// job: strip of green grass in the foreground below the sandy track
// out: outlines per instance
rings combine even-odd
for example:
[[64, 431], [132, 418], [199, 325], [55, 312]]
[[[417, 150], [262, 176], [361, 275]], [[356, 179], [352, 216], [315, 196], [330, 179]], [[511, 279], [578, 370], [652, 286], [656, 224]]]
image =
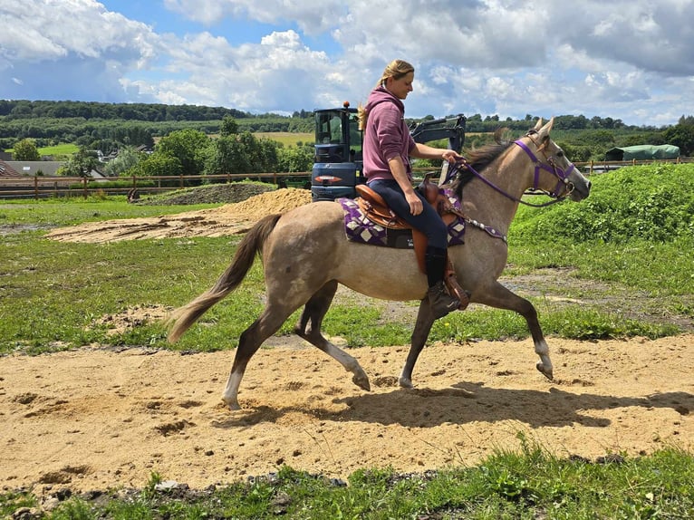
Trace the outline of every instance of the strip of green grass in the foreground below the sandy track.
[[[111, 490], [98, 500], [72, 496], [41, 518], [353, 518], [566, 519], [690, 518], [694, 457], [665, 448], [651, 457], [555, 457], [519, 436], [476, 467], [400, 475], [361, 469], [347, 482], [280, 467], [276, 474], [204, 491], [158, 490], [152, 474], [140, 491]], [[33, 506], [31, 492], [0, 496], [0, 514]]]

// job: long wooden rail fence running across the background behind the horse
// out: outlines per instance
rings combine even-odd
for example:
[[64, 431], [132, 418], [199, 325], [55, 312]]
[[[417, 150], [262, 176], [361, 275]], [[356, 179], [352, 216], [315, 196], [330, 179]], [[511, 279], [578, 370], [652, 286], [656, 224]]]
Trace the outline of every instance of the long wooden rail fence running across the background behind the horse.
[[[586, 175], [599, 174], [625, 166], [639, 166], [653, 163], [681, 164], [694, 162], [694, 158], [626, 160], [626, 161], [588, 161], [575, 162]], [[415, 173], [430, 169], [415, 169]], [[178, 175], [158, 177], [119, 177], [119, 178], [82, 178], [82, 177], [0, 177], [0, 198], [42, 198], [42, 197], [89, 197], [97, 193], [126, 195], [135, 188], [140, 194], [159, 193], [175, 189], [200, 186], [204, 184], [230, 183], [238, 180], [261, 180], [277, 186], [305, 187], [311, 180], [310, 171], [292, 173], [255, 173], [223, 175]], [[113, 185], [118, 181], [118, 186]]]

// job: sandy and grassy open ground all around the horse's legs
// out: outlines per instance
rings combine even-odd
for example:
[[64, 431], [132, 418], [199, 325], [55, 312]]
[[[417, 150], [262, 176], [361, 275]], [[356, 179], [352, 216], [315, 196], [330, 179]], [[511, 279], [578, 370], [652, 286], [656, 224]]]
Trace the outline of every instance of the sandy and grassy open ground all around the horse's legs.
[[[135, 488], [135, 504], [157, 507], [162, 498], [152, 493], [167, 479], [223, 493], [252, 477], [240, 493], [259, 494], [260, 509], [236, 517], [283, 509], [297, 518], [321, 510], [387, 517], [375, 503], [391, 517], [688, 516], [694, 278], [682, 252], [691, 250], [694, 190], [682, 179], [691, 170], [624, 170], [595, 178], [581, 204], [516, 219], [504, 281], [540, 311], [555, 380], [535, 371], [532, 342], [515, 316], [471, 308], [437, 323], [417, 388], [401, 390], [416, 305], [341, 290], [324, 330], [361, 362], [371, 392], [287, 335], [287, 323], [251, 362], [243, 409], [234, 413], [218, 396], [233, 357], [227, 349], [262, 307], [258, 265], [180, 345], [164, 341], [160, 319], [214, 283], [262, 212], [306, 203], [303, 190], [227, 206], [4, 204], [0, 482], [30, 489], [29, 501], [61, 488]], [[624, 207], [638, 203], [631, 217], [620, 213], [622, 198]], [[620, 227], [625, 218], [631, 225]], [[212, 232], [201, 236], [205, 229]], [[309, 475], [334, 479], [333, 498], [313, 513], [293, 509], [308, 500], [301, 496], [312, 489]], [[448, 487], [463, 480], [479, 487]], [[335, 484], [347, 481], [349, 492]], [[361, 496], [367, 482], [371, 498]], [[599, 491], [611, 486], [617, 499]], [[168, 500], [182, 488], [169, 489]], [[484, 503], [487, 515], [470, 509], [487, 495], [494, 501]], [[591, 500], [601, 496], [607, 509], [595, 514]], [[411, 509], [398, 509], [406, 504]], [[186, 517], [199, 516], [190, 509]]]

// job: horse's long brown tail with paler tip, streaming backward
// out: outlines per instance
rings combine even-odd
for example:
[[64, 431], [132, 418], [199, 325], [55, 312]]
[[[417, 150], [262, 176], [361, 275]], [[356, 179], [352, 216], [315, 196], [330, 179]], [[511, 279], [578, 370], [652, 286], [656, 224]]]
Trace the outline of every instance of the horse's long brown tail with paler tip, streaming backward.
[[243, 282], [255, 261], [255, 255], [263, 253], [265, 240], [272, 230], [275, 229], [279, 217], [280, 215], [268, 215], [259, 220], [241, 240], [231, 265], [219, 277], [217, 283], [205, 293], [200, 294], [195, 300], [178, 307], [169, 315], [167, 320], [167, 324], [171, 326], [169, 342], [177, 342], [183, 335], [183, 332], [188, 331], [188, 328], [193, 323], [196, 323], [207, 309], [222, 300]]

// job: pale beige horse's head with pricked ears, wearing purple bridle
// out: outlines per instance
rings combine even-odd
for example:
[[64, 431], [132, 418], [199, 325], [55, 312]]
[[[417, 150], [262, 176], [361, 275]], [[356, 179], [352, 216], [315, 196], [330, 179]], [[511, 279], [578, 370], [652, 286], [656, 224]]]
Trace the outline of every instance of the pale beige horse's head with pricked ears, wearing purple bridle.
[[574, 163], [564, 155], [564, 150], [549, 137], [554, 117], [545, 125], [542, 123], [542, 118], [538, 119], [534, 129], [515, 141], [516, 145], [535, 162], [532, 189], [545, 192], [554, 198], [583, 200], [591, 192], [591, 182], [574, 167]]

